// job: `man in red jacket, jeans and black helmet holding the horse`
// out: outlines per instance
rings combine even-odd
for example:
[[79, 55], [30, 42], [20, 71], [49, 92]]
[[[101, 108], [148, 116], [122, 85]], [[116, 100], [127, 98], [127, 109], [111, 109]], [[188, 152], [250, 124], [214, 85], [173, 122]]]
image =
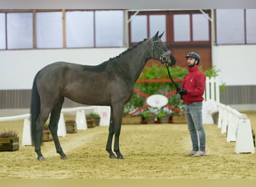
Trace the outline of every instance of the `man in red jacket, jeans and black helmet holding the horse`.
[[206, 156], [202, 120], [205, 76], [198, 68], [201, 58], [196, 52], [189, 52], [186, 60], [189, 73], [185, 76], [182, 88], [177, 88], [177, 93], [185, 102], [186, 121], [192, 141], [192, 150], [185, 156]]

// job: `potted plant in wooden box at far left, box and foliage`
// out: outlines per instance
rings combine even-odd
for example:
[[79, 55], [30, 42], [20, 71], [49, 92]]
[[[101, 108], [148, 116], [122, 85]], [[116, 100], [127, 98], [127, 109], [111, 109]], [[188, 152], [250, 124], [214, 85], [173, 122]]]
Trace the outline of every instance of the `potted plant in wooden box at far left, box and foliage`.
[[0, 133], [0, 151], [19, 150], [19, 136], [14, 131]]

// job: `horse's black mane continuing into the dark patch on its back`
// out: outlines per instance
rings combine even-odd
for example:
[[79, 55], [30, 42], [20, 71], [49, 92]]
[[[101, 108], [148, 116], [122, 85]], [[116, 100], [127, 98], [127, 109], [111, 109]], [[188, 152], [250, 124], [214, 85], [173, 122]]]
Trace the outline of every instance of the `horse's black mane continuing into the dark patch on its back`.
[[136, 43], [134, 46], [130, 46], [127, 50], [125, 50], [124, 52], [122, 52], [118, 56], [116, 56], [114, 58], [109, 58], [109, 61], [104, 61], [102, 64], [99, 64], [99, 65], [96, 65], [96, 66], [84, 65], [83, 66], [83, 70], [92, 71], [92, 72], [103, 72], [103, 70], [105, 70], [106, 66], [109, 64], [110, 61], [113, 61], [113, 60], [116, 60], [118, 58], [121, 58], [122, 55], [126, 54], [127, 52], [132, 51], [132, 49], [135, 49], [137, 46], [139, 46], [145, 40], [147, 40], [147, 39], [144, 39], [144, 40]]

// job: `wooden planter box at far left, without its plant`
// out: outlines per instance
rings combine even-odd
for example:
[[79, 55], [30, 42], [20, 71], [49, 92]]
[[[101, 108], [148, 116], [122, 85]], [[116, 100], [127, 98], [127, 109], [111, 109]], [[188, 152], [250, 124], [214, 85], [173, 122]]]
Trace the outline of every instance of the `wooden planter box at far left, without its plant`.
[[19, 137], [0, 138], [0, 151], [19, 150]]

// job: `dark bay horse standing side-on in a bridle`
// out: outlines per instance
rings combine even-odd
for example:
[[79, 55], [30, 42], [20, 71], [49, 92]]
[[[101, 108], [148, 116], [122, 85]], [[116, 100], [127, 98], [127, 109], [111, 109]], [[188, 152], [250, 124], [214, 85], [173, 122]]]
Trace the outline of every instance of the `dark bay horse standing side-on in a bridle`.
[[[132, 97], [133, 87], [150, 59], [172, 66], [175, 58], [165, 43], [162, 34], [137, 43], [115, 58], [97, 66], [55, 62], [43, 67], [34, 77], [31, 96], [31, 136], [37, 159], [43, 160], [40, 146], [43, 125], [49, 117], [49, 129], [61, 159], [67, 156], [58, 140], [58, 120], [64, 97], [85, 105], [109, 105], [111, 117], [106, 150], [109, 158], [124, 159], [119, 149], [121, 118], [124, 105]], [[114, 152], [112, 139], [115, 135]]]

